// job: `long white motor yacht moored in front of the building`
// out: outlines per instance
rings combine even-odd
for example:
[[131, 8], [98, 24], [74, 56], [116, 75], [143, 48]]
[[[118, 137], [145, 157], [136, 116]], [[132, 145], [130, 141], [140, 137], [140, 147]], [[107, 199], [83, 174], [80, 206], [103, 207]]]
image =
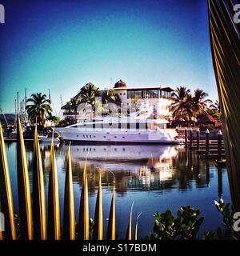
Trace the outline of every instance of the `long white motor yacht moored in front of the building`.
[[151, 118], [153, 113], [153, 107], [140, 108], [127, 116], [95, 118], [55, 130], [65, 141], [179, 144], [177, 132], [166, 129], [168, 121]]

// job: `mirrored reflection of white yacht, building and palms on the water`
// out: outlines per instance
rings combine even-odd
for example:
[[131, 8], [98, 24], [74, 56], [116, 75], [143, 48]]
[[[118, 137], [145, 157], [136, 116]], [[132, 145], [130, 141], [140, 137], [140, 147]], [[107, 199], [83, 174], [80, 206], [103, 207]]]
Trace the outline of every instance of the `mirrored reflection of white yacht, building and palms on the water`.
[[[66, 170], [68, 146], [55, 146], [61, 170]], [[32, 146], [26, 144], [29, 166]], [[42, 144], [42, 164], [45, 179], [50, 166], [50, 145]], [[98, 172], [102, 170], [103, 186], [115, 186], [118, 194], [128, 190], [192, 190], [193, 186], [209, 186], [210, 163], [183, 146], [71, 146], [74, 183], [81, 186], [82, 166], [88, 156], [90, 194], [96, 193]], [[59, 162], [59, 161], [58, 161]], [[31, 168], [30, 168], [31, 172]]]

